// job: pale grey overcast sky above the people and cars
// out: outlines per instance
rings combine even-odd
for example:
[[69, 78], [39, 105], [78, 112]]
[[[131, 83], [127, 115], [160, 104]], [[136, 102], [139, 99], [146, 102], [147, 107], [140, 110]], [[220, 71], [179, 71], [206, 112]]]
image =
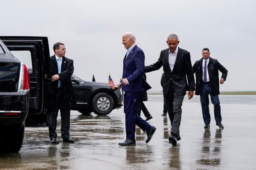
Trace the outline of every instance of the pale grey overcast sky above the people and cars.
[[[145, 53], [145, 65], [155, 63], [168, 48], [169, 34], [190, 52], [192, 65], [201, 50], [228, 70], [221, 91], [255, 91], [255, 0], [4, 0], [0, 35], [46, 36], [52, 46], [62, 42], [85, 81], [115, 83], [122, 76], [125, 48], [122, 34], [131, 31]], [[151, 91], [160, 91], [163, 68], [147, 73]], [[220, 75], [221, 76], [221, 75]]]

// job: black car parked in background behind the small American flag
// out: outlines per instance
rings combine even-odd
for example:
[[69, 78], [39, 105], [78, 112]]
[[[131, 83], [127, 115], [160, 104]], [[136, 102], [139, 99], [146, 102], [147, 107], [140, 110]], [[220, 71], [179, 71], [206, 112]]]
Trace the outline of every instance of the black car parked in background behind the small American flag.
[[82, 114], [94, 112], [97, 115], [107, 115], [113, 109], [121, 108], [122, 89], [111, 89], [107, 83], [83, 81], [75, 75], [72, 75], [71, 80], [76, 96], [76, 106], [71, 109]]

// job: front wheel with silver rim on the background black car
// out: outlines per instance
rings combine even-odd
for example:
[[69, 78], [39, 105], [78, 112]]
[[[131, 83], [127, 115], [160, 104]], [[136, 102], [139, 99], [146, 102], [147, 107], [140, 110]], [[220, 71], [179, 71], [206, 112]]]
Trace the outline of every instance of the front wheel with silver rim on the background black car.
[[108, 115], [114, 107], [111, 95], [100, 92], [93, 98], [93, 112], [97, 115]]

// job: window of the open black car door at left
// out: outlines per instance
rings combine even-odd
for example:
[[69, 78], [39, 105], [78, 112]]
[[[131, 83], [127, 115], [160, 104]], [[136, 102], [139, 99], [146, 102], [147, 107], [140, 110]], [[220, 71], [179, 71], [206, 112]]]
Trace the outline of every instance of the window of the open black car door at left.
[[28, 69], [32, 69], [32, 60], [31, 60], [31, 52], [30, 51], [11, 51], [12, 55], [14, 55], [21, 63], [26, 64]]

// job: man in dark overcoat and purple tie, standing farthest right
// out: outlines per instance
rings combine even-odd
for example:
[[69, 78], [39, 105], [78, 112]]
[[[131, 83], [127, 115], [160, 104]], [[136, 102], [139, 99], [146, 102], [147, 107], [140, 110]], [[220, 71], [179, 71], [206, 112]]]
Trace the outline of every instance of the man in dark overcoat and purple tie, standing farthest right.
[[[201, 107], [204, 119], [204, 128], [210, 127], [209, 113], [209, 95], [211, 96], [212, 104], [214, 105], [214, 117], [216, 125], [224, 128], [221, 124], [221, 106], [218, 95], [219, 82], [223, 84], [227, 78], [227, 69], [218, 62], [218, 60], [210, 58], [209, 49], [204, 48], [202, 51], [203, 58], [196, 61], [193, 66], [193, 72], [196, 77], [195, 95], [200, 95]], [[218, 71], [222, 72], [221, 80], [219, 81]]]

